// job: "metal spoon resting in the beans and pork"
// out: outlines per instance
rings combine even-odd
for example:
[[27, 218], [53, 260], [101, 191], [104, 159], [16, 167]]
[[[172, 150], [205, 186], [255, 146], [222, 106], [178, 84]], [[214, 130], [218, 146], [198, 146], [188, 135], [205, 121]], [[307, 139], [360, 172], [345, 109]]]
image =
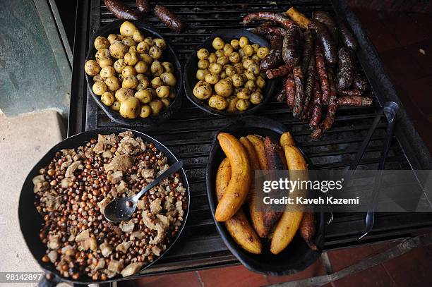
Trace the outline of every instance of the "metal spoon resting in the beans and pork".
[[133, 197], [117, 198], [110, 202], [107, 207], [105, 207], [105, 218], [112, 222], [128, 220], [132, 216], [133, 212], [135, 212], [136, 204], [140, 197], [143, 196], [144, 193], [147, 193], [148, 190], [158, 185], [164, 178], [171, 176], [173, 173], [181, 169], [181, 166], [183, 166], [183, 161], [177, 161]]

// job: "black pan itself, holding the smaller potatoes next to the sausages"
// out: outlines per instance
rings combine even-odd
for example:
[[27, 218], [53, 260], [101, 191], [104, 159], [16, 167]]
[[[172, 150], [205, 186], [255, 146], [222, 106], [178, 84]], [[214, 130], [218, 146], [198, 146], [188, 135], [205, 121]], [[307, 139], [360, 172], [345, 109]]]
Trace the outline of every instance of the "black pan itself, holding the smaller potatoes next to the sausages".
[[[252, 32], [249, 32], [248, 30], [227, 29], [227, 30], [217, 30], [216, 32], [214, 32], [210, 37], [208, 37], [208, 39], [205, 40], [203, 44], [200, 45], [200, 47], [196, 48], [196, 51], [198, 51], [201, 48], [208, 49], [208, 51], [215, 51], [215, 49], [212, 47], [212, 42], [213, 39], [215, 39], [215, 37], [221, 37], [225, 43], [229, 43], [232, 39], [234, 38], [239, 39], [241, 36], [248, 37], [249, 42], [251, 42], [251, 44], [259, 44], [260, 46], [269, 47], [269, 44], [265, 39], [261, 38], [258, 35], [253, 34]], [[226, 111], [219, 111], [217, 109], [210, 108], [210, 106], [207, 103], [196, 98], [192, 92], [193, 87], [195, 87], [196, 83], [198, 83], [198, 80], [196, 78], [196, 71], [198, 70], [198, 66], [197, 66], [198, 58], [196, 57], [196, 51], [193, 51], [193, 53], [191, 53], [188, 62], [184, 67], [184, 91], [189, 101], [191, 101], [192, 104], [198, 106], [198, 108], [215, 116], [239, 118], [241, 116], [255, 114], [256, 111], [261, 109], [263, 105], [266, 102], [268, 102], [272, 97], [272, 94], [275, 90], [276, 81], [274, 79], [273, 80], [265, 79], [265, 89], [263, 91], [263, 97], [264, 97], [263, 102], [257, 105], [253, 105], [251, 109], [247, 109], [246, 111], [235, 111], [234, 113], [227, 113]]]

